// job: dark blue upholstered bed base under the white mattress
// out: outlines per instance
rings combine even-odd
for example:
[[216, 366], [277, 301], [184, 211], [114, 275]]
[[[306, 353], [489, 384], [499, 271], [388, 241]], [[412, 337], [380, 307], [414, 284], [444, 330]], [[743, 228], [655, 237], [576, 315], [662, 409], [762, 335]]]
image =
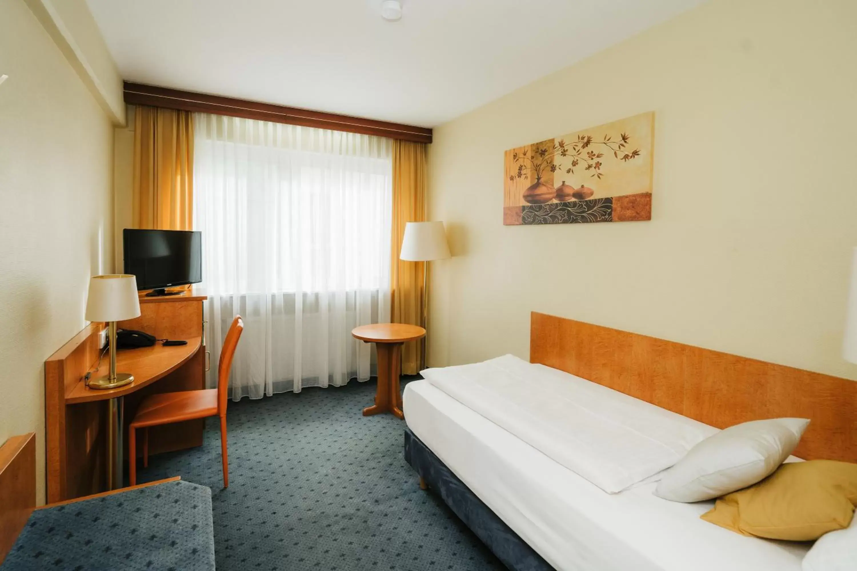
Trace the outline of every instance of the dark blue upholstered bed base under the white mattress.
[[512, 571], [554, 571], [409, 428], [405, 428], [405, 461], [507, 568]]

